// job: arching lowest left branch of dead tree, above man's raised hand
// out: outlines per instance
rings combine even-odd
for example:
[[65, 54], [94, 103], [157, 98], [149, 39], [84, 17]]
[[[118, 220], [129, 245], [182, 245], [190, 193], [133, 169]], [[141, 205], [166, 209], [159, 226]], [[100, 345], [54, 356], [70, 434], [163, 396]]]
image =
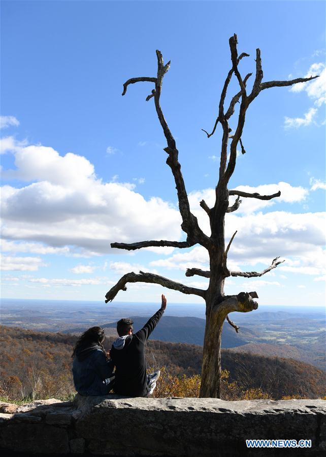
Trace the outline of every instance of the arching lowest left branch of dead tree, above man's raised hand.
[[108, 301], [112, 301], [114, 297], [117, 295], [119, 290], [127, 290], [125, 287], [126, 283], [151, 283], [151, 284], [160, 284], [163, 287], [167, 287], [168, 289], [178, 290], [184, 294], [193, 294], [199, 295], [200, 297], [205, 298], [206, 291], [202, 289], [196, 289], [194, 287], [184, 286], [181, 283], [176, 283], [175, 281], [171, 281], [168, 278], [164, 278], [162, 276], [154, 275], [153, 273], [144, 273], [143, 271], [139, 272], [139, 275], [136, 275], [133, 271], [130, 273], [126, 273], [123, 275], [122, 278], [119, 279], [117, 284], [113, 286], [109, 292], [105, 295], [107, 303]]

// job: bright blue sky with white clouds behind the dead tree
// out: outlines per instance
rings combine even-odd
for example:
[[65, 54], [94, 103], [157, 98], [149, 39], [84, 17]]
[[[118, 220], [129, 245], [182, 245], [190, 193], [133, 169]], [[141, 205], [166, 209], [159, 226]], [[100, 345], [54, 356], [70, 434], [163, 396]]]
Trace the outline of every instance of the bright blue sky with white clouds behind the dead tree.
[[[4, 297], [102, 300], [122, 274], [139, 269], [207, 287], [184, 276], [187, 267], [207, 269], [199, 246], [110, 248], [184, 239], [165, 138], [153, 99], [145, 101], [153, 85], [131, 85], [121, 97], [122, 84], [156, 75], [155, 49], [171, 59], [161, 106], [191, 208], [208, 231], [199, 201], [212, 199], [221, 132], [207, 139], [201, 129], [214, 125], [236, 33], [239, 53], [250, 54], [243, 75], [254, 70], [259, 47], [265, 81], [320, 77], [265, 90], [248, 110], [247, 153], [229, 189], [282, 195], [243, 201], [226, 216], [226, 239], [238, 230], [229, 268], [285, 262], [260, 279], [229, 279], [225, 291], [256, 290], [260, 306], [323, 304], [324, 2], [2, 1], [1, 10]], [[238, 90], [232, 81], [227, 100]], [[201, 301], [141, 283], [116, 300], [155, 301], [162, 292], [171, 302]]]

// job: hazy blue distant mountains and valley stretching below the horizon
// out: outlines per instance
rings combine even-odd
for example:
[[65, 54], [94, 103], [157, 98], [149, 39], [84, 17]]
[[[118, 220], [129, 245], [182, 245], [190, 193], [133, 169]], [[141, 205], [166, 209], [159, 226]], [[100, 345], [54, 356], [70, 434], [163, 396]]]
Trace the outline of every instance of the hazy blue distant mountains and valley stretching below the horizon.
[[[93, 325], [104, 326], [116, 338], [116, 321], [135, 316], [135, 331], [158, 309], [156, 303], [71, 302], [55, 300], [1, 300], [1, 323], [34, 331], [80, 334]], [[203, 345], [204, 304], [169, 303], [151, 339]], [[224, 323], [222, 348], [242, 353], [292, 357], [325, 364], [325, 312], [321, 308], [262, 307], [252, 313], [232, 313], [239, 333]]]

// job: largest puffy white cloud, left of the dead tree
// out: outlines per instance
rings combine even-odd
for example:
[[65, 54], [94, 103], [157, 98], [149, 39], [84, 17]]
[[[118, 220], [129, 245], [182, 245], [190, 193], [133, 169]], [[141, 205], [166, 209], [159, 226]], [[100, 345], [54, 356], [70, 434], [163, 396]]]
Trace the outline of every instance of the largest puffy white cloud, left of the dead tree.
[[181, 217], [173, 205], [146, 200], [134, 184], [103, 182], [85, 157], [60, 156], [42, 145], [21, 147], [14, 156], [16, 169], [4, 175], [27, 184], [2, 188], [2, 233], [8, 241], [103, 254], [114, 241], [180, 239]]

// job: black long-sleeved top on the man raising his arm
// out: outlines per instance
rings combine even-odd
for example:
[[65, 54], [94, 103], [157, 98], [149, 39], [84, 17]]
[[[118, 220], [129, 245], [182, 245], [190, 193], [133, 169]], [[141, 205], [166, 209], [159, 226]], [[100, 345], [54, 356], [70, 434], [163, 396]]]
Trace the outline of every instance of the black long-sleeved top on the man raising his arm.
[[147, 394], [145, 343], [163, 313], [164, 310], [159, 309], [141, 330], [127, 336], [122, 349], [117, 349], [116, 342], [113, 343], [110, 357], [115, 364], [115, 393], [127, 397], [144, 397]]

